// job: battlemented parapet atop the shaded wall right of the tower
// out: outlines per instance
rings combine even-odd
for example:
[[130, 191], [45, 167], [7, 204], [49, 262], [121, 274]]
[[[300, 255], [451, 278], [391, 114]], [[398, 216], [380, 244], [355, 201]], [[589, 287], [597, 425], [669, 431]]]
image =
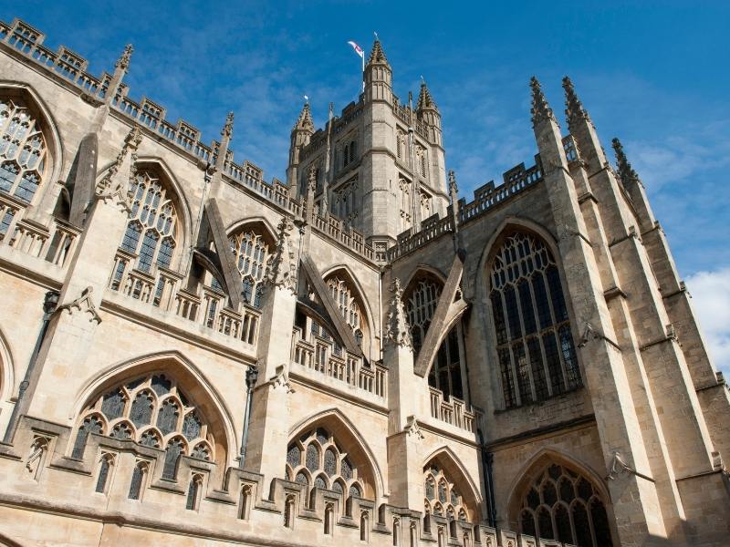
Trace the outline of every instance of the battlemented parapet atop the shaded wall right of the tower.
[[[525, 169], [525, 164], [520, 163], [515, 168], [506, 171], [504, 184], [495, 187], [495, 182], [489, 181], [474, 191], [474, 201], [466, 203], [464, 199], [459, 200], [458, 212], [455, 215], [457, 225], [463, 226], [467, 222], [473, 221], [496, 205], [535, 185], [538, 181], [542, 181], [542, 178], [543, 172], [539, 156], [536, 156], [536, 164], [529, 169]], [[454, 232], [453, 205], [449, 206], [443, 219], [423, 222], [420, 232], [401, 234], [398, 243], [388, 249], [387, 258], [389, 261], [396, 260], [404, 254], [420, 249], [446, 232]]]

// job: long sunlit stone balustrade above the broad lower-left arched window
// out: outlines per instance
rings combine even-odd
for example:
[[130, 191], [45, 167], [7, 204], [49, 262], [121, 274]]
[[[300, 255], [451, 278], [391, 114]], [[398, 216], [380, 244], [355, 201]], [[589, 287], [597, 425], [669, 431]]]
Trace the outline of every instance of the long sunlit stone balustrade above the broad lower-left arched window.
[[166, 268], [142, 272], [134, 267], [137, 258], [121, 249], [117, 252], [109, 282], [112, 291], [256, 345], [261, 320], [258, 310], [247, 305], [241, 312], [225, 307], [225, 294], [211, 287], [203, 286], [199, 294], [187, 291], [182, 287], [183, 276]]

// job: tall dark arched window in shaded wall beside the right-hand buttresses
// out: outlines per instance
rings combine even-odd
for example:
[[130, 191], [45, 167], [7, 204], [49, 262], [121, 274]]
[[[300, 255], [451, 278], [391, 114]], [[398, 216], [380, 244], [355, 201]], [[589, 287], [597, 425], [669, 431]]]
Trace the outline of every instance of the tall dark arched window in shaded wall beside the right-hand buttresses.
[[578, 387], [568, 308], [546, 244], [526, 232], [507, 234], [489, 279], [506, 408]]

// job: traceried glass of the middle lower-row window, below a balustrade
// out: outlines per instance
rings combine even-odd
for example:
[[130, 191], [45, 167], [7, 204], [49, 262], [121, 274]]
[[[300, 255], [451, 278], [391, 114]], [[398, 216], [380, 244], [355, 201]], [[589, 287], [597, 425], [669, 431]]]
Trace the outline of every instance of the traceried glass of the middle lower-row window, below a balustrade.
[[359, 470], [325, 428], [311, 429], [289, 444], [286, 475], [308, 488], [334, 490], [344, 498], [362, 498], [365, 492]]

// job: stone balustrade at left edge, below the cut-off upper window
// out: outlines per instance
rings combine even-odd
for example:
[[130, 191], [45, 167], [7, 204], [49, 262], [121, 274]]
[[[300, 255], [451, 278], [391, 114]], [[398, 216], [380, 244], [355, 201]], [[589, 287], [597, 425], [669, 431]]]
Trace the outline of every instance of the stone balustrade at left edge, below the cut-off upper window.
[[0, 244], [64, 267], [81, 230], [53, 219], [50, 227], [24, 218], [26, 204], [0, 191]]

